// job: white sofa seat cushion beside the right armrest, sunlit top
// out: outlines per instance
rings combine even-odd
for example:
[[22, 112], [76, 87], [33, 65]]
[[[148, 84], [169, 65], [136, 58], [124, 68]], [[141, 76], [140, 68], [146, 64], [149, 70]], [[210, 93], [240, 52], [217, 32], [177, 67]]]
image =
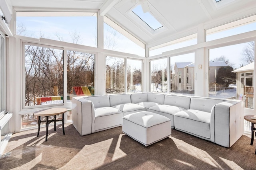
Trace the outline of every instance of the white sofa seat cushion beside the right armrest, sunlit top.
[[175, 129], [210, 140], [211, 113], [188, 109], [174, 115]]

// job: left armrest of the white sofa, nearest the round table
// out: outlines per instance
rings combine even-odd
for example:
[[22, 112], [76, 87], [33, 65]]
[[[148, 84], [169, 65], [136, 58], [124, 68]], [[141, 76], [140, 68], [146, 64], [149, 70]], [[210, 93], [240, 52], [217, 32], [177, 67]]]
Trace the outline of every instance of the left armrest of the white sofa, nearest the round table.
[[72, 124], [81, 136], [94, 133], [95, 110], [90, 100], [72, 98]]

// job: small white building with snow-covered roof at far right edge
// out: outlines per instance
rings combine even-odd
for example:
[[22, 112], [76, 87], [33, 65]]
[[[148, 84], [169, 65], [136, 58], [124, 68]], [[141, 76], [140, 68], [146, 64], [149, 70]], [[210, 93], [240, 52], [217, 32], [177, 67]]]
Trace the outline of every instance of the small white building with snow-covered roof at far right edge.
[[253, 87], [254, 62], [242, 66], [234, 71], [236, 73], [236, 95], [244, 95], [244, 86]]

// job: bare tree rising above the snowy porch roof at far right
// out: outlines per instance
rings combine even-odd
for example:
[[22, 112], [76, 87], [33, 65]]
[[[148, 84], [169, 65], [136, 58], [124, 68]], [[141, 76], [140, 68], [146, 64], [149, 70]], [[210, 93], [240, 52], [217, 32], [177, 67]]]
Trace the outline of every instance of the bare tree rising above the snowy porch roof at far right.
[[244, 65], [254, 62], [254, 41], [248, 42], [247, 46], [243, 49], [243, 57], [241, 61]]

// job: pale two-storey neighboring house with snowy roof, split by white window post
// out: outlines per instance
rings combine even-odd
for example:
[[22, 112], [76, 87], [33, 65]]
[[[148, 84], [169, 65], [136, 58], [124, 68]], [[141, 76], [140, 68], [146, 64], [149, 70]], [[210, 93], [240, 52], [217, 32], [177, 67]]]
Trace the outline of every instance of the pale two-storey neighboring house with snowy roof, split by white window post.
[[[209, 62], [209, 82], [216, 82], [218, 70], [223, 66], [228, 65], [224, 61]], [[194, 62], [175, 63], [172, 80], [172, 90], [194, 90]]]

